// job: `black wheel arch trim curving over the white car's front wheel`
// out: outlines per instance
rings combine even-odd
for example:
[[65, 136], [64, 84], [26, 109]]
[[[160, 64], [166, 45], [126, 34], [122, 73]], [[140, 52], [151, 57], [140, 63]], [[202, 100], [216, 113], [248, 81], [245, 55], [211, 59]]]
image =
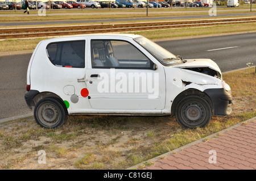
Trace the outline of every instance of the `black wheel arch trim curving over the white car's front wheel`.
[[197, 89], [187, 89], [187, 90], [181, 92], [179, 95], [177, 95], [176, 98], [174, 99], [174, 101], [172, 102], [171, 115], [173, 115], [173, 116], [175, 115], [177, 104], [179, 103], [179, 101], [181, 99], [183, 99], [185, 96], [188, 96], [188, 95], [198, 95], [201, 98], [204, 98], [205, 100], [207, 100], [207, 102], [210, 104], [210, 108], [213, 110], [212, 100], [210, 99], [210, 97], [207, 94], [205, 94], [204, 92], [201, 92], [200, 90], [197, 90]]

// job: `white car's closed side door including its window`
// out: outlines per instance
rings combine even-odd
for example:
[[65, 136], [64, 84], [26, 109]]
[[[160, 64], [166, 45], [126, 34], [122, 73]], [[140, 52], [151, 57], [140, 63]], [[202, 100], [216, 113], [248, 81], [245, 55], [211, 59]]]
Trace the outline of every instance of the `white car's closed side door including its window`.
[[[92, 108], [100, 110], [161, 110], [166, 84], [162, 66], [135, 41], [90, 40], [92, 69], [86, 70], [86, 87]], [[128, 111], [129, 112], [129, 111]]]

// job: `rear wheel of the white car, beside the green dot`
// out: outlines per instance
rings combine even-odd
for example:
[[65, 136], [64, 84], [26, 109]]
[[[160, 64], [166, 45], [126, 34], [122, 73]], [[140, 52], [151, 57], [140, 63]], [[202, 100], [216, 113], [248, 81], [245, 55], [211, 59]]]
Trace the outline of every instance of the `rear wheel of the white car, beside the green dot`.
[[68, 111], [64, 102], [55, 97], [48, 97], [36, 104], [34, 117], [40, 127], [57, 128], [67, 121]]

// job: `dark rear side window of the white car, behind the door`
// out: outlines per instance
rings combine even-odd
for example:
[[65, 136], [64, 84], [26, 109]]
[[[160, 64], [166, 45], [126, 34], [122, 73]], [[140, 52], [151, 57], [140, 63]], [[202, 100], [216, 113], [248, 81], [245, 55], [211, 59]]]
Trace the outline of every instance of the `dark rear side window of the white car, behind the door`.
[[85, 67], [85, 41], [62, 41], [50, 43], [46, 48], [53, 65], [69, 68]]

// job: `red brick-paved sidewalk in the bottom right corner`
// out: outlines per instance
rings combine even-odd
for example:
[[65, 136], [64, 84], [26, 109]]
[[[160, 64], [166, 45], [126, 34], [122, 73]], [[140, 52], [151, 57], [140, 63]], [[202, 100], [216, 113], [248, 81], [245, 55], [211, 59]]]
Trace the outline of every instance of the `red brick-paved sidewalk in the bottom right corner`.
[[[154, 162], [146, 170], [255, 170], [256, 120]], [[216, 163], [209, 163], [216, 151]]]

